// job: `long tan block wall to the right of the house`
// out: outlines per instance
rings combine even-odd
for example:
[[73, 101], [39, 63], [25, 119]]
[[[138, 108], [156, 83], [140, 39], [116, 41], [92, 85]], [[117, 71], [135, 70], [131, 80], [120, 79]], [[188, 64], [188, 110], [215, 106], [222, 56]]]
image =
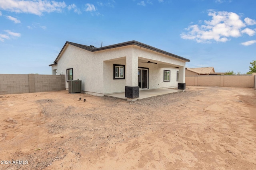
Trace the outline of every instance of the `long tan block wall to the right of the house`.
[[187, 86], [224, 86], [224, 87], [254, 87], [255, 76], [243, 75], [207, 75], [186, 76]]

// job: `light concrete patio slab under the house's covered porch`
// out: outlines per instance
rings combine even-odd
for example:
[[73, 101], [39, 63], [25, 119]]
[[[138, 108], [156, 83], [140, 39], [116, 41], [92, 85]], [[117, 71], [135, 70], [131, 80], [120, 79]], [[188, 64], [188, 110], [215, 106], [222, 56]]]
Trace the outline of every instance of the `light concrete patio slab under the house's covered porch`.
[[[160, 96], [164, 94], [169, 93], [175, 93], [175, 92], [182, 92], [183, 90], [175, 90], [170, 88], [160, 88], [160, 89], [150, 89], [150, 90], [140, 90], [140, 97], [137, 98], [138, 100], [145, 99], [145, 98], [151, 98], [154, 96]], [[126, 100], [125, 93], [112, 93], [112, 94], [104, 94], [104, 96], [112, 97], [112, 98], [118, 98], [122, 100]]]

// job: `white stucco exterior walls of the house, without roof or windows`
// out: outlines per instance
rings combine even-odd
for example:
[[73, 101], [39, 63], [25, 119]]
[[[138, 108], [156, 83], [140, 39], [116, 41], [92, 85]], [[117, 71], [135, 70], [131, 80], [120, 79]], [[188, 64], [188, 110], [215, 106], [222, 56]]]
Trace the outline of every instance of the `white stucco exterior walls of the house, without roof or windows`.
[[[54, 70], [52, 72], [55, 73], [56, 70], [57, 75], [65, 74], [66, 78], [66, 69], [73, 68], [73, 79], [82, 80], [82, 91], [86, 93], [91, 92], [101, 96], [101, 94], [124, 92], [128, 79], [132, 80], [133, 84], [136, 84], [136, 86], [138, 85], [138, 70], [135, 69], [133, 74], [127, 70], [127, 57], [133, 56], [137, 56], [138, 58], [138, 66], [136, 66], [136, 68], [149, 68], [149, 89], [174, 87], [178, 85], [178, 82], [176, 81], [177, 67], [185, 67], [184, 61], [164, 54], [152, 52], [136, 45], [95, 52], [90, 52], [73, 45], [67, 45], [57, 61], [58, 64], [52, 66], [52, 70]], [[162, 64], [140, 63], [140, 60], [161, 61], [162, 63], [165, 63], [165, 67], [163, 67]], [[130, 62], [130, 60], [128, 61]], [[113, 64], [125, 65], [125, 79], [113, 79]], [[129, 64], [134, 67], [136, 62], [135, 65], [134, 63]], [[170, 82], [163, 81], [164, 70], [171, 71]], [[68, 89], [68, 82], [66, 82], [66, 89]]]

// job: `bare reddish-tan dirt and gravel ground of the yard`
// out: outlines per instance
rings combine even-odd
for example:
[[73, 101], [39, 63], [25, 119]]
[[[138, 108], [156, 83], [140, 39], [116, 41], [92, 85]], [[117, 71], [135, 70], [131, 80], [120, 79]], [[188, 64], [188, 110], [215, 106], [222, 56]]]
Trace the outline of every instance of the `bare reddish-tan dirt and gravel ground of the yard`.
[[256, 90], [0, 95], [0, 160], [1, 170], [255, 170]]

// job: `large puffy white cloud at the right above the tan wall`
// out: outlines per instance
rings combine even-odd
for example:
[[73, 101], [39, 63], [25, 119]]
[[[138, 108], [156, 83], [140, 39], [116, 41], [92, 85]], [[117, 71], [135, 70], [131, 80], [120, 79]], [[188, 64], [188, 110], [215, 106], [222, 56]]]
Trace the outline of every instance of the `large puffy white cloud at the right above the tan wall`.
[[202, 25], [190, 25], [185, 29], [186, 33], [180, 35], [181, 38], [192, 39], [198, 43], [226, 42], [230, 40], [230, 37], [240, 37], [242, 33], [247, 33], [250, 36], [255, 33], [249, 28], [242, 30], [246, 24], [236, 13], [210, 11], [208, 16], [211, 16], [212, 20], [204, 21]]

